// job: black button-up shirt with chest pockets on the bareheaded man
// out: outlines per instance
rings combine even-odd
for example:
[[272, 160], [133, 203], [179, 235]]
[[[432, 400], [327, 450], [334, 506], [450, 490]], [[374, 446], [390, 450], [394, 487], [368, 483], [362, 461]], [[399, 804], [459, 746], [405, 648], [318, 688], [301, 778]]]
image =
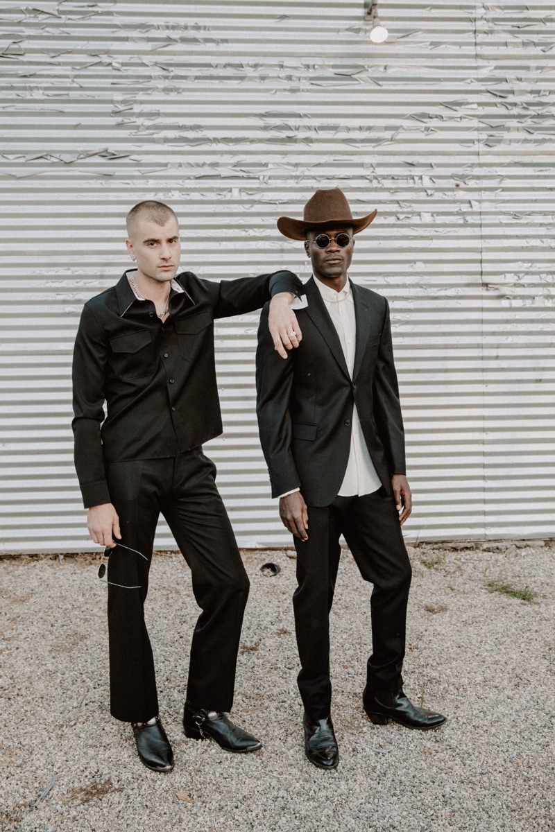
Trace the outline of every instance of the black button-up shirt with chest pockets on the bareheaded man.
[[278, 292], [303, 291], [289, 271], [221, 283], [188, 271], [176, 282], [183, 291], [171, 289], [164, 323], [151, 300], [136, 299], [126, 273], [82, 311], [72, 427], [86, 508], [111, 502], [105, 462], [171, 457], [221, 433], [214, 319], [260, 309]]

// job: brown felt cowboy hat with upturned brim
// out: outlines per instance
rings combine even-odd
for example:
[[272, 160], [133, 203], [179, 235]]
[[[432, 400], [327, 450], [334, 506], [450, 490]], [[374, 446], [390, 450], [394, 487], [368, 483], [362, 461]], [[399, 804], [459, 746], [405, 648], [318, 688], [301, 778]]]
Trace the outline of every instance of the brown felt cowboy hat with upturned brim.
[[340, 188], [319, 188], [306, 203], [302, 220], [280, 216], [277, 225], [281, 233], [291, 240], [305, 240], [307, 231], [322, 225], [352, 225], [353, 234], [358, 234], [370, 225], [377, 213], [374, 209], [371, 214], [354, 220], [347, 197]]

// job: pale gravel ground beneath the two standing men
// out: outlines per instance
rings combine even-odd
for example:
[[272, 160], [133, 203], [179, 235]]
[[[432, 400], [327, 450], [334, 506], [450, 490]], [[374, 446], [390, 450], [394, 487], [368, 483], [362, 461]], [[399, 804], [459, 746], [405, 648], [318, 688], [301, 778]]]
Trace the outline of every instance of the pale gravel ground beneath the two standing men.
[[[251, 579], [235, 721], [264, 740], [250, 755], [181, 728], [197, 610], [176, 552], [152, 565], [148, 626], [176, 768], [146, 770], [111, 719], [106, 587], [97, 559], [18, 557], [2, 574], [2, 832], [536, 832], [553, 819], [555, 542], [411, 548], [405, 691], [443, 728], [373, 726], [361, 691], [369, 589], [344, 553], [332, 612], [333, 717], [341, 761], [305, 759], [290, 597], [293, 552], [244, 552]], [[260, 573], [271, 560], [281, 572]], [[490, 581], [538, 593], [489, 592]], [[490, 587], [491, 588], [491, 587]]]

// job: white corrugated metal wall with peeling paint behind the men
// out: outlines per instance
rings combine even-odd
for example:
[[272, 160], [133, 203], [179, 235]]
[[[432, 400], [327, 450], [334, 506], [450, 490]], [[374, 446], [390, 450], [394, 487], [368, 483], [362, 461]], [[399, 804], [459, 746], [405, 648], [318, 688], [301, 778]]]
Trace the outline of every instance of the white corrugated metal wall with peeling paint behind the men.
[[[336, 184], [355, 215], [379, 209], [351, 275], [392, 305], [407, 537], [553, 536], [553, 0], [379, 6], [381, 46], [349, 0], [2, 3], [3, 551], [92, 547], [72, 340], [128, 265], [126, 210], [174, 206], [204, 277], [308, 276], [275, 219]], [[283, 545], [255, 330], [218, 326], [225, 433], [208, 453], [240, 544]]]

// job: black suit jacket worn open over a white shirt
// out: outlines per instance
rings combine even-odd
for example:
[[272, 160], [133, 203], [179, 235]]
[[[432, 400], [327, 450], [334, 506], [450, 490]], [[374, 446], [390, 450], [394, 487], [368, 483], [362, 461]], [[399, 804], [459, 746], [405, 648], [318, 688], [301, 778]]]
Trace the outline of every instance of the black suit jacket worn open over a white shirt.
[[305, 285], [308, 308], [296, 312], [298, 349], [281, 359], [260, 316], [256, 412], [272, 496], [300, 487], [308, 505], [327, 506], [349, 460], [353, 405], [370, 458], [389, 496], [391, 475], [405, 473], [404, 430], [387, 300], [350, 283], [356, 316], [353, 378], [320, 290]]

